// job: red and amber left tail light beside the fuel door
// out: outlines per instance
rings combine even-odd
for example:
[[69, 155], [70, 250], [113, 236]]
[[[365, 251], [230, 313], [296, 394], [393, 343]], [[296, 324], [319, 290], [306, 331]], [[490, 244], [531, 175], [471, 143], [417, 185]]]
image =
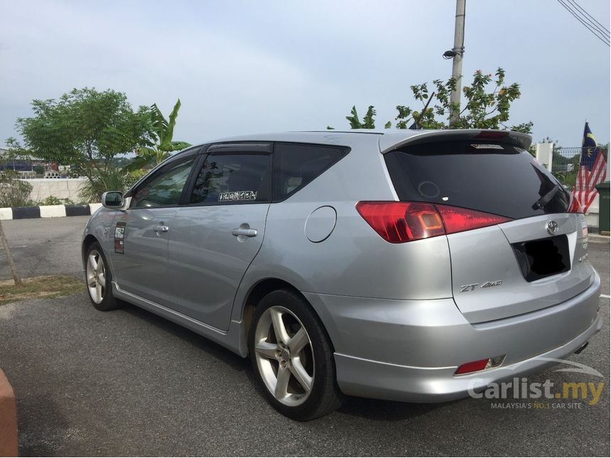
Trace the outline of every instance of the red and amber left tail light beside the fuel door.
[[357, 212], [382, 239], [391, 244], [510, 221], [496, 214], [426, 202], [358, 202]]

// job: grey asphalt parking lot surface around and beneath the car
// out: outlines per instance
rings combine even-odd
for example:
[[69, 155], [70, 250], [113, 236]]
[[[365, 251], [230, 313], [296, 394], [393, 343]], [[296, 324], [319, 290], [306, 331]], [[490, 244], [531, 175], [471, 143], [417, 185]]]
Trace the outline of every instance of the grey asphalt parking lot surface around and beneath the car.
[[[86, 220], [3, 222], [23, 276], [79, 275]], [[590, 244], [590, 259], [609, 295], [609, 245]], [[16, 391], [22, 456], [608, 456], [609, 305], [600, 300], [605, 326], [571, 358], [602, 378], [530, 378], [605, 383], [596, 405], [576, 409], [347, 398], [326, 418], [293, 422], [259, 396], [248, 360], [136, 307], [97, 312], [85, 293], [0, 306], [0, 367]]]

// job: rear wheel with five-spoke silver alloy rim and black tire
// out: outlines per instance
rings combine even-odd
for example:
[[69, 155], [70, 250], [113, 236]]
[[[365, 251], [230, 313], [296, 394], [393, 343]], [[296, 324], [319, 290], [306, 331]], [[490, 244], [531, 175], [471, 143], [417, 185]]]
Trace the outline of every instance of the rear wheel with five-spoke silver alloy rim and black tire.
[[252, 317], [249, 353], [261, 391], [286, 417], [313, 420], [340, 407], [330, 338], [298, 293], [276, 290], [261, 299]]

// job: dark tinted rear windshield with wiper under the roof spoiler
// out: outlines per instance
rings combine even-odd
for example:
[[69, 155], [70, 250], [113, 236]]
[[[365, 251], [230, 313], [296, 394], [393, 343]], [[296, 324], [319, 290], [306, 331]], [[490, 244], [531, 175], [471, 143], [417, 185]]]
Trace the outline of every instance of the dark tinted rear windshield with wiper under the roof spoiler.
[[439, 142], [386, 153], [399, 199], [526, 218], [566, 212], [570, 195], [523, 148]]

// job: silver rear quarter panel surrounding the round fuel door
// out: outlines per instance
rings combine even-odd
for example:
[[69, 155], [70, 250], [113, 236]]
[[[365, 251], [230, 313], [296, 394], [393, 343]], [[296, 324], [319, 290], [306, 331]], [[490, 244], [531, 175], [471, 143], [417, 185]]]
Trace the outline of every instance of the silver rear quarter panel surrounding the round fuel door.
[[[390, 244], [358, 214], [359, 200], [396, 200], [384, 157], [375, 149], [356, 150], [283, 202], [273, 203], [261, 251], [249, 267], [235, 304], [253, 285], [279, 278], [303, 292], [389, 299], [451, 298], [450, 254], [445, 236]], [[324, 241], [305, 236], [313, 210], [337, 212], [335, 229]], [[235, 307], [234, 320], [242, 307]]]

